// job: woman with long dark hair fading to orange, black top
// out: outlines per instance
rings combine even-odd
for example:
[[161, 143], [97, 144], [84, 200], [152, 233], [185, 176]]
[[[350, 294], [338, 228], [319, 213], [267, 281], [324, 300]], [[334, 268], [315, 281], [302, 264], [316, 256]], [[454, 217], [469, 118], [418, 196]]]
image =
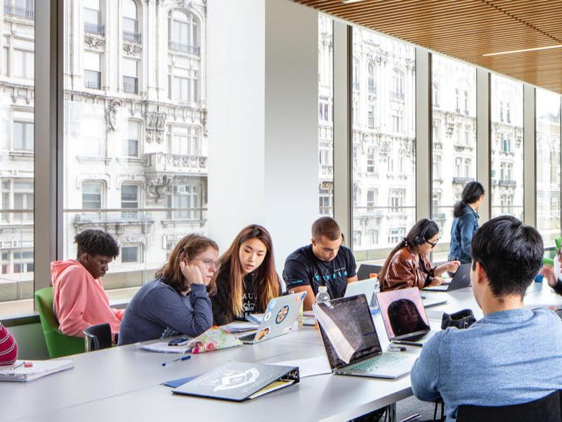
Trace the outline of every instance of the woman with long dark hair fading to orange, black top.
[[219, 258], [211, 281], [214, 323], [229, 324], [266, 312], [269, 301], [280, 295], [270, 234], [258, 224], [244, 227]]

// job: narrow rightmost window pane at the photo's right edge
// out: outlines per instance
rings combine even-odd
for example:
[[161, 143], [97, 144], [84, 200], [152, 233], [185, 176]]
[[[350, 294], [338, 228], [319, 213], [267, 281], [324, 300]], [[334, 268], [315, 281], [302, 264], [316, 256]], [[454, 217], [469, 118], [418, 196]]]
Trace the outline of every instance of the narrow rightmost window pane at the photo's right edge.
[[537, 104], [537, 229], [544, 246], [554, 245], [560, 229], [560, 98], [542, 89], [536, 90]]

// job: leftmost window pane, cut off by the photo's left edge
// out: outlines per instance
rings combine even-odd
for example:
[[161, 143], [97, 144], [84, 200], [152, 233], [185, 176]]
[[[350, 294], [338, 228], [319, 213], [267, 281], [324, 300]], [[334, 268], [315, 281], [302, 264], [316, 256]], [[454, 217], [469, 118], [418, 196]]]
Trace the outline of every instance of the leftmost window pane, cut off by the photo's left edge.
[[34, 1], [0, 14], [0, 316], [33, 312]]

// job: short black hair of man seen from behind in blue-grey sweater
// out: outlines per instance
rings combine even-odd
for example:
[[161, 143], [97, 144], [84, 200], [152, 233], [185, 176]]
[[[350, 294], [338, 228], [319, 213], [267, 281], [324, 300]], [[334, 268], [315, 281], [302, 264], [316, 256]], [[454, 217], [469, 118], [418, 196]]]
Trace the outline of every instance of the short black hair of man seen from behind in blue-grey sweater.
[[495, 296], [525, 295], [542, 265], [542, 237], [509, 215], [483, 224], [471, 243], [472, 269], [480, 262]]

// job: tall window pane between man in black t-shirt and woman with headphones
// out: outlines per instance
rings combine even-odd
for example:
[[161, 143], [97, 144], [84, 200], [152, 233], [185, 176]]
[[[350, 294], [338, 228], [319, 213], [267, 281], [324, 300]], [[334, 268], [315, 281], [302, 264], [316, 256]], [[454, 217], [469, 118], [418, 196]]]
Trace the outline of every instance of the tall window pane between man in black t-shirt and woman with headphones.
[[353, 252], [358, 261], [385, 258], [414, 224], [414, 87], [413, 47], [353, 28]]

